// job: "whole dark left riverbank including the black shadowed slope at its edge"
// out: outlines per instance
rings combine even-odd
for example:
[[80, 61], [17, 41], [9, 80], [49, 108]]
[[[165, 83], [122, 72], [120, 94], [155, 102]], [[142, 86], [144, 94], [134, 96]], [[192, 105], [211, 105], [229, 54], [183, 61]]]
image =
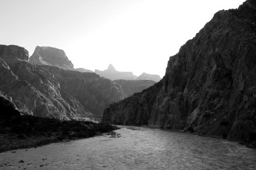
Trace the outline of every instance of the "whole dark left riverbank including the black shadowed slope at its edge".
[[89, 138], [119, 129], [108, 123], [57, 120], [22, 114], [11, 101], [0, 96], [0, 153]]

